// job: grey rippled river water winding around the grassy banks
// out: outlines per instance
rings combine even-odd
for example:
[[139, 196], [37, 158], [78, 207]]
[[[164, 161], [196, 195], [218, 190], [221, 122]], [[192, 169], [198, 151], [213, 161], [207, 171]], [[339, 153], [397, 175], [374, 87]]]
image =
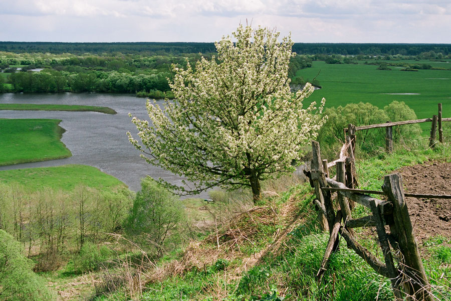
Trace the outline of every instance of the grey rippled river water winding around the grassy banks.
[[[0, 110], [0, 118], [62, 119], [60, 126], [66, 132], [61, 141], [72, 152], [72, 157], [67, 159], [3, 166], [0, 170], [83, 164], [118, 178], [134, 191], [140, 189], [140, 179], [146, 175], [180, 185], [180, 177], [147, 164], [128, 141], [127, 131], [137, 138], [136, 127], [128, 113], [148, 119], [145, 101], [145, 98], [124, 94], [0, 94], [0, 103], [95, 105], [107, 106], [117, 112], [110, 115], [98, 112]], [[207, 197], [207, 193], [202, 193], [200, 197]]]

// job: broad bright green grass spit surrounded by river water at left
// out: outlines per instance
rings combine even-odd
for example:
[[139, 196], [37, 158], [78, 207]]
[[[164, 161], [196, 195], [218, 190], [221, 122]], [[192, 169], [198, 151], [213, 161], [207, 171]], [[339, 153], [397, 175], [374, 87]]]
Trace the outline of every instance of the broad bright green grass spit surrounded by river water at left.
[[0, 166], [71, 157], [59, 119], [0, 119]]

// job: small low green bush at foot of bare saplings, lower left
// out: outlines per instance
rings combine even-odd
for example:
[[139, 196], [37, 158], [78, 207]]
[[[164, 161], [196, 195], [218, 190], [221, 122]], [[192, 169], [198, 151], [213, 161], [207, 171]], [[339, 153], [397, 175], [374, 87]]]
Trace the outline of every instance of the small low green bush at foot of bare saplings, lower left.
[[74, 270], [76, 273], [98, 270], [102, 262], [108, 260], [111, 254], [112, 251], [106, 246], [85, 242], [80, 252], [74, 257]]

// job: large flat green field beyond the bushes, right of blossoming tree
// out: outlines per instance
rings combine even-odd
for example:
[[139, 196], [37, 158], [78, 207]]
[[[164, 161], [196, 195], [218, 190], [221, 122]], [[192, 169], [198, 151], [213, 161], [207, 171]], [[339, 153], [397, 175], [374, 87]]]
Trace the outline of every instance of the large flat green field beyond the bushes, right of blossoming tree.
[[[427, 60], [412, 63], [433, 64]], [[435, 62], [435, 65], [438, 63]], [[451, 64], [441, 65], [447, 67]], [[398, 100], [404, 101], [412, 108], [418, 118], [428, 118], [437, 114], [437, 103], [441, 102], [443, 117], [451, 117], [451, 70], [406, 72], [391, 66], [389, 66], [392, 68], [391, 71], [377, 70], [377, 67], [364, 65], [363, 62], [353, 65], [314, 61], [312, 68], [299, 70], [297, 76], [310, 81], [317, 78], [322, 88], [316, 90], [308, 101], [315, 100], [318, 103], [325, 97], [326, 107], [369, 102], [383, 108], [393, 100]], [[394, 95], [395, 93], [412, 94]], [[421, 125], [423, 128], [430, 127], [429, 123]]]

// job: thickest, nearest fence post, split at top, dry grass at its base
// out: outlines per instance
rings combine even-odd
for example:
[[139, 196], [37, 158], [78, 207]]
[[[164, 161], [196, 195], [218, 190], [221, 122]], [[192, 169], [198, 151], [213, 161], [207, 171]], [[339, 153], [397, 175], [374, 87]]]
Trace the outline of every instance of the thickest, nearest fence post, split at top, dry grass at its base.
[[424, 272], [418, 245], [413, 235], [407, 204], [404, 199], [402, 178], [399, 174], [385, 176], [382, 190], [393, 204], [393, 220], [390, 231], [401, 252], [401, 277], [404, 292], [415, 300], [432, 301], [430, 284]]

